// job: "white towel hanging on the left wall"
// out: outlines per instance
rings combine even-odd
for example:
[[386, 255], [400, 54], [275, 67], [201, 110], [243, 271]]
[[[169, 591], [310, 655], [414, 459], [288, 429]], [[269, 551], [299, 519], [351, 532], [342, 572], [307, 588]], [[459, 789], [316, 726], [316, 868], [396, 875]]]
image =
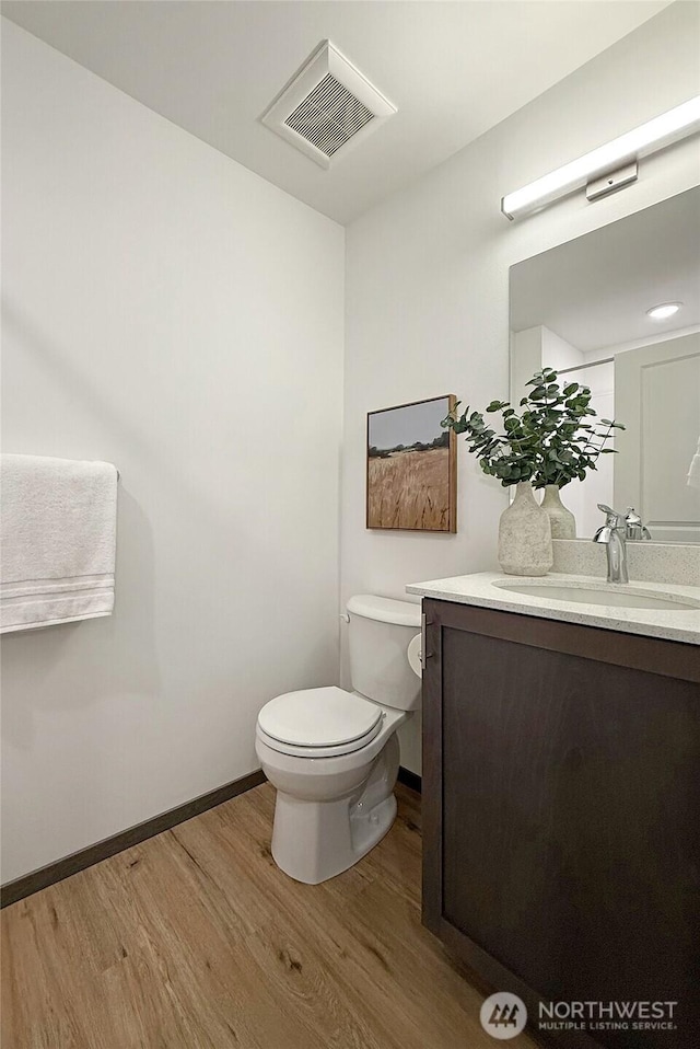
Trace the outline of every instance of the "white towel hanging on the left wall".
[[0, 633], [109, 615], [117, 470], [2, 456]]

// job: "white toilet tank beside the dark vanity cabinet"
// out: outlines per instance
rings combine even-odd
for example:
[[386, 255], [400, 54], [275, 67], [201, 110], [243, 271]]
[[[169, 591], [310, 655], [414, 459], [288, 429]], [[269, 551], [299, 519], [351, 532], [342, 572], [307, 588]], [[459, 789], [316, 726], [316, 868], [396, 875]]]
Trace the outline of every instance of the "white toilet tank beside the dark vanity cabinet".
[[420, 633], [420, 604], [358, 593], [347, 604], [352, 688], [397, 711], [420, 706], [420, 678], [407, 648]]

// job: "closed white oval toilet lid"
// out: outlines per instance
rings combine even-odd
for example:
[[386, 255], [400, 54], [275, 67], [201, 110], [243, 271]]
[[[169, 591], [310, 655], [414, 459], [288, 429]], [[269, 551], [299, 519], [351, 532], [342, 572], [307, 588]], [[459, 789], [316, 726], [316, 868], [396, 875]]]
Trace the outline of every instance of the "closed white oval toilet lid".
[[285, 692], [266, 703], [258, 725], [267, 736], [295, 747], [338, 747], [378, 731], [382, 707], [342, 689]]

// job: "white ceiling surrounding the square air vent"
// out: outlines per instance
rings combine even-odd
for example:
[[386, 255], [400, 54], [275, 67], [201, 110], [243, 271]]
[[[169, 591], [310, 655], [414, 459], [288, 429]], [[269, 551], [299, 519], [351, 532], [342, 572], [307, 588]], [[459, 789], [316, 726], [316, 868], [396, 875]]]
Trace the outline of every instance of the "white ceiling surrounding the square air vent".
[[[1, 10], [156, 113], [347, 223], [666, 5], [4, 0]], [[324, 38], [398, 106], [329, 171], [259, 120]]]

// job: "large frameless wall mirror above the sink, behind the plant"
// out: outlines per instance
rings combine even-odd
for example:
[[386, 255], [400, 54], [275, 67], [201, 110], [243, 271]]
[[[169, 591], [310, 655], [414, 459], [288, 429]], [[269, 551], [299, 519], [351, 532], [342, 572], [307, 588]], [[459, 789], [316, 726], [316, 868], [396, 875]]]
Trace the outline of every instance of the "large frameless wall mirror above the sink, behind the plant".
[[633, 506], [656, 542], [700, 542], [700, 187], [512, 266], [510, 318], [514, 405], [546, 366], [626, 426], [561, 489], [578, 538], [605, 503]]

